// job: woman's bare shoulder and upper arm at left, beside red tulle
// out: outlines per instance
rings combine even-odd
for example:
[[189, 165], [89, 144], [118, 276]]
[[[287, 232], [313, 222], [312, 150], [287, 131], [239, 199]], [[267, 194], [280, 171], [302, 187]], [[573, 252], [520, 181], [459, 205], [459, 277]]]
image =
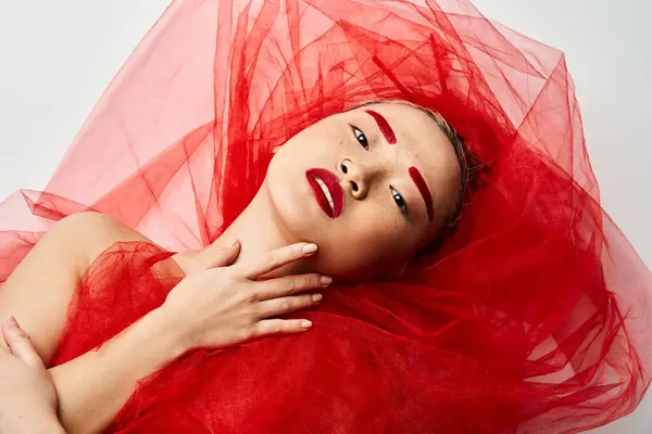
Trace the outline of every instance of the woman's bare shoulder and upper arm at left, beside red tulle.
[[13, 315], [18, 320], [46, 365], [57, 350], [80, 277], [118, 241], [149, 240], [102, 214], [72, 215], [42, 237], [0, 288], [0, 318]]

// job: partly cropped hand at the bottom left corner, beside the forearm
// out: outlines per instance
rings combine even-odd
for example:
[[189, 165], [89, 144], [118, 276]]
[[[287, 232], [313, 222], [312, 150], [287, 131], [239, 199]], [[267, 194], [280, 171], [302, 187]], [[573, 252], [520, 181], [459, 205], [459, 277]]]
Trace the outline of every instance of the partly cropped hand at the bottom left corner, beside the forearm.
[[29, 336], [13, 317], [2, 336], [9, 350], [0, 347], [0, 433], [63, 433], [54, 385]]

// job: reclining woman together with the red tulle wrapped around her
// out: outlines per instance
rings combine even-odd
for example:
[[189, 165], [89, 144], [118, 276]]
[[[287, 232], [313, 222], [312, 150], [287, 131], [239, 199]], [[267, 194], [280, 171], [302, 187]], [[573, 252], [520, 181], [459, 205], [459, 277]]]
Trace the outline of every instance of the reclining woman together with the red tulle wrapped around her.
[[[4, 233], [7, 276], [38, 239], [32, 231], [54, 220], [90, 208], [126, 224], [64, 219], [20, 266], [73, 270], [62, 277], [67, 292], [42, 303], [57, 314], [34, 337], [54, 365], [64, 423], [83, 420], [92, 430], [84, 418], [104, 418], [110, 431], [136, 432], [572, 432], [636, 407], [652, 360], [651, 280], [599, 206], [563, 59], [490, 25], [468, 3], [443, 3], [360, 1], [354, 14], [339, 2], [173, 3], [47, 193], [24, 194], [38, 219], [14, 212], [21, 220], [11, 229], [23, 232]], [[437, 235], [455, 221], [466, 180], [463, 153], [451, 146], [456, 135], [404, 103], [360, 105], [379, 98], [441, 113], [485, 167], [443, 243]], [[336, 183], [314, 168], [335, 174], [355, 206], [339, 214]], [[319, 195], [322, 184], [335, 189], [330, 197]], [[299, 200], [311, 191], [321, 199]], [[213, 247], [171, 260], [138, 232], [165, 250]], [[318, 308], [301, 314], [314, 324], [308, 333], [175, 359], [215, 346], [170, 340], [174, 324], [220, 305], [174, 285], [215, 265], [204, 253], [229, 237], [242, 241], [234, 267], [255, 266], [264, 254], [256, 245], [309, 241], [316, 255], [268, 277], [317, 271], [366, 283], [324, 292]], [[88, 240], [93, 245], [83, 250], [59, 247]], [[52, 266], [53, 252], [68, 267]], [[260, 284], [248, 282], [269, 267], [239, 270], [227, 281]], [[301, 299], [294, 307], [308, 305]], [[179, 307], [191, 302], [197, 308]], [[34, 333], [27, 322], [37, 316], [16, 308]], [[142, 354], [127, 359], [131, 352]], [[134, 382], [172, 359], [129, 397]], [[66, 393], [64, 384], [74, 387]], [[83, 390], [97, 399], [87, 403], [102, 405], [75, 407], [76, 397], [90, 396]], [[77, 410], [68, 417], [66, 408]]]

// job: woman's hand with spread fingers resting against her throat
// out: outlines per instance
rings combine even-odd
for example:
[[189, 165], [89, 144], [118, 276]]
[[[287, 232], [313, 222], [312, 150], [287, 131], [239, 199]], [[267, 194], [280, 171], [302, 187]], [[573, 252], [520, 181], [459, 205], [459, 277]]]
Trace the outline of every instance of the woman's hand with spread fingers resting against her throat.
[[[198, 347], [224, 348], [262, 336], [301, 333], [312, 323], [280, 319], [322, 299], [321, 294], [301, 294], [328, 286], [331, 279], [316, 273], [261, 277], [313, 255], [314, 244], [298, 243], [273, 251], [249, 263], [209, 268], [186, 277], [167, 295], [160, 317], [179, 339], [185, 350]], [[239, 243], [223, 253], [230, 264]]]

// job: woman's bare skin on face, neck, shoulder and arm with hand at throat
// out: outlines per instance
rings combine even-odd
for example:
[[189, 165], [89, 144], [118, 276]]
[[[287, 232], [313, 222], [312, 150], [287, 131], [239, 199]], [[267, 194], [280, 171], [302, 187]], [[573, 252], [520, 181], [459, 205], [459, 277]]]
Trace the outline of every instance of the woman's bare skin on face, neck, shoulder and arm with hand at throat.
[[[365, 113], [369, 107], [388, 120], [396, 143], [388, 143]], [[334, 171], [344, 190], [337, 219], [324, 214], [309, 188], [305, 171], [313, 167]], [[410, 167], [423, 174], [431, 193], [431, 220]], [[408, 204], [408, 216], [390, 186]], [[301, 131], [278, 150], [251, 204], [215, 243], [173, 257], [187, 277], [160, 308], [99, 349], [48, 370], [66, 432], [101, 431], [139, 379], [187, 350], [305, 332], [311, 324], [277, 317], [318, 303], [315, 291], [329, 284], [328, 276], [374, 279], [402, 268], [437, 233], [459, 186], [451, 144], [414, 107], [373, 104]], [[57, 224], [3, 284], [0, 318], [15, 316], [46, 367], [84, 271], [118, 241], [149, 240], [106, 216], [73, 215]], [[318, 250], [304, 251], [305, 242]]]

